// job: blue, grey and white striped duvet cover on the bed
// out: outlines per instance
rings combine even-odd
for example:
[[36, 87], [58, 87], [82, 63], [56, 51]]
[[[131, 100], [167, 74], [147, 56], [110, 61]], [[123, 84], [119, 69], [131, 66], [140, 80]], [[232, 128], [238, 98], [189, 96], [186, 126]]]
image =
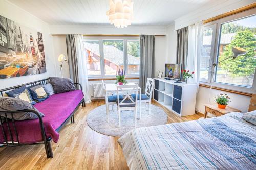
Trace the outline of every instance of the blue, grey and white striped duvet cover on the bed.
[[256, 169], [256, 126], [237, 112], [134, 129], [118, 142], [130, 169]]

